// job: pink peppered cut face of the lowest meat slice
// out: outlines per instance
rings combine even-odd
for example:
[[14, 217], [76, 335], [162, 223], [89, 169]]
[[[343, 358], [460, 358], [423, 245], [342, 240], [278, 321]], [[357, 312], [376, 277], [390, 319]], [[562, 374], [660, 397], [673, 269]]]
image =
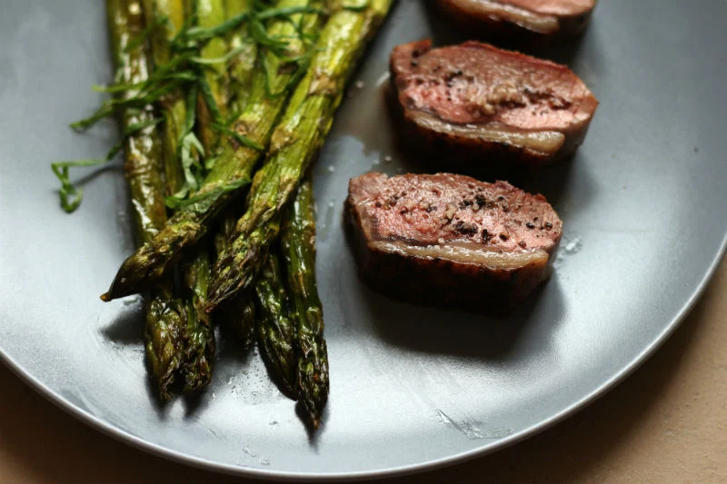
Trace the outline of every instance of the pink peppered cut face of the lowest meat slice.
[[463, 185], [456, 176], [435, 178], [396, 177], [369, 188], [365, 212], [373, 214], [374, 239], [524, 252], [552, 247], [558, 237], [561, 222], [542, 197], [507, 183]]

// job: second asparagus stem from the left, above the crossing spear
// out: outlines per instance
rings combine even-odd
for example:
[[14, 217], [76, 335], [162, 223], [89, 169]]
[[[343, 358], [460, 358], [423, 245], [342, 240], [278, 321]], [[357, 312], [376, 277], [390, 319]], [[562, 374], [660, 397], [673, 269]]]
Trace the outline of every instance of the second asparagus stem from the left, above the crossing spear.
[[[162, 17], [166, 19], [160, 28], [152, 32], [151, 44], [154, 65], [167, 64], [173, 56], [171, 40], [184, 25], [184, 2], [182, 0], [143, 0], [143, 2], [147, 23]], [[162, 103], [162, 113], [164, 114], [162, 156], [164, 156], [167, 187], [182, 186], [184, 174], [173, 168], [177, 163], [176, 145], [184, 133], [186, 109], [181, 90], [175, 90], [166, 96]], [[173, 195], [174, 192], [166, 194]]]

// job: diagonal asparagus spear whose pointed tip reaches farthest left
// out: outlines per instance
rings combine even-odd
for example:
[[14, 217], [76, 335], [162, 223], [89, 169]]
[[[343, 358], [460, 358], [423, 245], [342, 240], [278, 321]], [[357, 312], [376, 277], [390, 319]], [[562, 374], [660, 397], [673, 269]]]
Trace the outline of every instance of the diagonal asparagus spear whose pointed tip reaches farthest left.
[[[320, 6], [320, 0], [281, 0], [278, 8]], [[274, 20], [267, 27], [271, 38], [295, 35], [303, 17], [302, 31], [313, 34], [318, 28], [318, 14], [291, 15], [288, 20]], [[304, 44], [291, 42], [289, 57], [302, 54]], [[244, 134], [258, 146], [244, 146], [237, 142], [227, 143], [211, 173], [207, 175], [197, 193], [196, 202], [189, 203], [167, 222], [152, 241], [144, 244], [128, 257], [116, 274], [111, 288], [102, 299], [116, 298], [144, 291], [164, 275], [180, 256], [185, 247], [194, 245], [209, 231], [214, 216], [234, 199], [238, 189], [249, 181], [261, 153], [260, 146], [270, 141], [278, 115], [282, 112], [288, 94], [292, 92], [294, 74], [285, 69], [287, 62], [277, 55], [264, 54], [267, 69], [254, 73], [253, 90], [244, 112], [233, 124], [234, 132]], [[262, 58], [262, 56], [261, 56]], [[269, 95], [270, 92], [276, 95]]]

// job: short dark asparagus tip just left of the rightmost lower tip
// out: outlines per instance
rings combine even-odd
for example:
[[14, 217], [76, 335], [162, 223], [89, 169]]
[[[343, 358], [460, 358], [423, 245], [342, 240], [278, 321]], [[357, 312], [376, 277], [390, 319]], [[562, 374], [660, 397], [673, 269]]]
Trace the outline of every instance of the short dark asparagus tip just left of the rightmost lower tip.
[[258, 313], [255, 332], [260, 351], [284, 393], [297, 400], [297, 326], [275, 252], [270, 252], [265, 260], [255, 283], [255, 296]]

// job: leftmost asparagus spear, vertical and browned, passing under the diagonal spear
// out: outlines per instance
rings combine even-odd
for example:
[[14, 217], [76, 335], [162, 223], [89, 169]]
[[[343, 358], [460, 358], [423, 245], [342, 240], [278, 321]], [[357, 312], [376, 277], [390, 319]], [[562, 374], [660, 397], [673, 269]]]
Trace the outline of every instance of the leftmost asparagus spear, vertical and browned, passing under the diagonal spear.
[[[107, 0], [106, 10], [114, 62], [119, 73], [118, 82], [144, 81], [148, 77], [144, 46], [139, 45], [126, 52], [131, 39], [140, 35], [144, 29], [139, 0]], [[126, 109], [122, 113], [121, 123], [125, 130], [151, 119], [151, 109]], [[129, 136], [124, 143], [124, 173], [133, 201], [134, 225], [141, 242], [152, 239], [166, 222], [163, 169], [159, 163], [161, 144], [158, 129], [152, 126]], [[145, 311], [146, 355], [159, 394], [167, 400], [171, 397], [169, 388], [174, 381], [174, 374], [182, 363], [182, 327], [185, 319], [181, 301], [172, 297], [170, 281], [160, 282], [146, 298]]]

